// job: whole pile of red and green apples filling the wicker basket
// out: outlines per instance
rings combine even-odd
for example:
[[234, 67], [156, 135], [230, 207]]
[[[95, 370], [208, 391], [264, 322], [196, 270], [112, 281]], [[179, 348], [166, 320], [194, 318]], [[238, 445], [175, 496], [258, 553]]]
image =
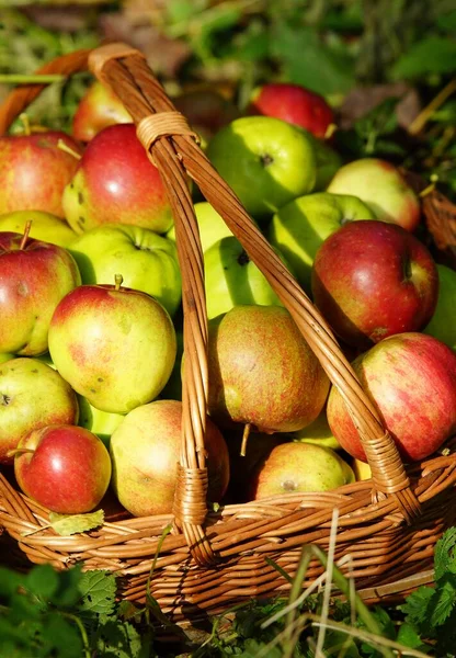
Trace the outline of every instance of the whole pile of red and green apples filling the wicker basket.
[[[174, 99], [221, 177], [311, 297], [406, 463], [456, 432], [456, 272], [418, 237], [390, 162], [342, 162], [317, 94], [270, 83], [243, 115]], [[172, 511], [181, 443], [181, 273], [158, 170], [94, 82], [72, 134], [0, 138], [0, 464], [48, 509], [113, 491]], [[221, 217], [192, 190], [209, 319], [208, 501], [369, 477], [343, 396]], [[14, 475], [12, 473], [14, 472]]]

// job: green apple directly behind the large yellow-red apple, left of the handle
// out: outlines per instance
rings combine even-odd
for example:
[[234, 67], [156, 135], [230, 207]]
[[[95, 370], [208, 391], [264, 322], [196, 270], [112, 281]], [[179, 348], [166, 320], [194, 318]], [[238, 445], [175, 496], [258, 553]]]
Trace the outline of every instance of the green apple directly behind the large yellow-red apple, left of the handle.
[[68, 250], [83, 284], [111, 283], [121, 272], [126, 287], [152, 295], [175, 313], [182, 280], [172, 240], [140, 226], [106, 224], [78, 236]]

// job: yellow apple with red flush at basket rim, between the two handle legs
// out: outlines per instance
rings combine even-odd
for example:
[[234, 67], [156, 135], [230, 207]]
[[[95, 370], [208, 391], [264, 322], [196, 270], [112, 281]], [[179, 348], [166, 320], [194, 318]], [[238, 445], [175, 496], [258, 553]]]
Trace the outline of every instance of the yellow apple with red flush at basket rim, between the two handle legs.
[[282, 443], [259, 464], [249, 490], [251, 500], [306, 491], [330, 491], [355, 481], [352, 468], [330, 447]]

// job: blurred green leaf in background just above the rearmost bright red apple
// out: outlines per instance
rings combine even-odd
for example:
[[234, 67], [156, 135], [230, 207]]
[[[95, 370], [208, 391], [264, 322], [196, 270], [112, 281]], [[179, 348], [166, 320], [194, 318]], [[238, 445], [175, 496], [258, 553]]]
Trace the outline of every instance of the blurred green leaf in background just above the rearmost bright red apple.
[[353, 59], [333, 53], [310, 27], [286, 23], [273, 26], [271, 55], [282, 61], [286, 80], [322, 95], [345, 93], [354, 83]]

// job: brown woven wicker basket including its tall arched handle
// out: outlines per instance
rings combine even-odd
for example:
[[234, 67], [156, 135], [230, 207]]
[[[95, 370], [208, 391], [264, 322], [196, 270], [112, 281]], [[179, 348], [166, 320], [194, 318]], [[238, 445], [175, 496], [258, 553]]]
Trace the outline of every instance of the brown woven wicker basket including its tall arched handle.
[[[213, 169], [144, 56], [128, 46], [110, 44], [59, 58], [39, 72], [71, 75], [88, 66], [115, 90], [132, 114], [138, 136], [160, 170], [174, 215], [185, 350], [174, 510], [170, 515], [113, 518], [98, 531], [58, 536], [47, 526], [47, 510], [0, 475], [0, 525], [32, 563], [52, 563], [61, 569], [82, 560], [87, 569], [109, 569], [122, 576], [121, 595], [138, 602], [145, 601], [159, 549], [150, 592], [179, 623], [226, 611], [252, 597], [285, 593], [288, 581], [266, 557], [293, 576], [304, 544], [328, 547], [335, 507], [335, 559], [350, 554], [350, 572], [368, 601], [430, 581], [435, 542], [456, 522], [456, 442], [449, 441], [444, 453], [406, 469], [330, 328]], [[0, 109], [0, 134], [42, 88], [27, 86], [9, 97]], [[371, 480], [324, 494], [289, 494], [207, 510], [207, 319], [203, 254], [186, 175], [262, 270], [341, 392], [368, 456]], [[172, 531], [163, 538], [169, 524]], [[303, 585], [321, 571], [321, 565], [312, 561]]]

